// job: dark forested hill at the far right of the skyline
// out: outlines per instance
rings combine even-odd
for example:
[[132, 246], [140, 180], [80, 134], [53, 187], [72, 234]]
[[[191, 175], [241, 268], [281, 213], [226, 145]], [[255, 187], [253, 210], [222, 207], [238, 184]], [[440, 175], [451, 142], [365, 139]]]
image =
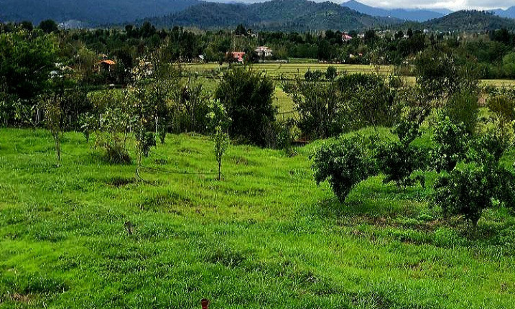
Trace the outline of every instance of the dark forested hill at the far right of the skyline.
[[422, 23], [422, 27], [442, 31], [486, 31], [506, 28], [515, 30], [515, 19], [496, 16], [492, 12], [458, 11]]

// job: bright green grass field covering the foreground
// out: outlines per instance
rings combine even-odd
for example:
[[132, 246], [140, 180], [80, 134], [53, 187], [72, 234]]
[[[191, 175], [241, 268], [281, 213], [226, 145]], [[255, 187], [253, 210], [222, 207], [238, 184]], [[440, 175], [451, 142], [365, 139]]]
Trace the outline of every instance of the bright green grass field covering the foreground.
[[511, 214], [488, 211], [470, 233], [428, 190], [379, 177], [338, 203], [312, 180], [316, 144], [295, 157], [231, 146], [216, 181], [207, 137], [169, 135], [139, 184], [78, 133], [59, 168], [52, 147], [45, 130], [0, 129], [0, 308], [515, 304]]

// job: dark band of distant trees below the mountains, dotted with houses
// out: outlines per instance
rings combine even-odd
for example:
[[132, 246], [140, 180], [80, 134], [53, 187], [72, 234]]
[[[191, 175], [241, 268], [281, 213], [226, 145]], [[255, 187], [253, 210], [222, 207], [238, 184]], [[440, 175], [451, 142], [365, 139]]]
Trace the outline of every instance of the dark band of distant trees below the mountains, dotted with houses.
[[[20, 30], [32, 32], [28, 22], [0, 25], [3, 33]], [[411, 65], [417, 54], [432, 48], [452, 52], [463, 65], [477, 68], [479, 78], [515, 77], [515, 34], [495, 30], [483, 34], [428, 32], [420, 30], [347, 33], [352, 39], [342, 39], [343, 32], [259, 32], [239, 25], [235, 30], [200, 31], [173, 27], [157, 29], [146, 22], [140, 27], [126, 25], [123, 29], [59, 30], [53, 21], [43, 21], [37, 27], [58, 38], [62, 62], [70, 67], [77, 62], [98, 60], [98, 55], [118, 60], [117, 72], [110, 82], [125, 82], [123, 72], [131, 69], [137, 58], [160, 49], [170, 62], [224, 62], [228, 52], [246, 52], [247, 62], [264, 60], [254, 52], [258, 46], [270, 47], [273, 55], [267, 60], [310, 58], [349, 64], [379, 64], [404, 67], [402, 73], [413, 75]], [[37, 30], [37, 29], [36, 29]], [[84, 59], [86, 58], [86, 59]], [[91, 77], [91, 82], [104, 78]]]

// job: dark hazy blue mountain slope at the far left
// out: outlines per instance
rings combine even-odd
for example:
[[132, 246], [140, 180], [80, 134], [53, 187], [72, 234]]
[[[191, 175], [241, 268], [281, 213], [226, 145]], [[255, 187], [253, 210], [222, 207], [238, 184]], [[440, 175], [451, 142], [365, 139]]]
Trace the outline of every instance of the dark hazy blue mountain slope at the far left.
[[0, 21], [45, 19], [89, 24], [122, 23], [179, 12], [198, 0], [0, 0]]

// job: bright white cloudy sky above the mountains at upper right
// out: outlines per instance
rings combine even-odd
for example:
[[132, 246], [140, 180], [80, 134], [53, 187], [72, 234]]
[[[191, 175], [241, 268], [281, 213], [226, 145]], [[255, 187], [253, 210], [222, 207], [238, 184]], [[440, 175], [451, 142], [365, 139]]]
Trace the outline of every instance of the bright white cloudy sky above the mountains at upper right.
[[[212, 0], [211, 0], [212, 1]], [[219, 2], [263, 2], [267, 0], [214, 0]], [[314, 0], [322, 2], [326, 0]], [[342, 3], [347, 0], [333, 0]], [[509, 8], [515, 0], [356, 0], [376, 8], [447, 8], [449, 10]]]

